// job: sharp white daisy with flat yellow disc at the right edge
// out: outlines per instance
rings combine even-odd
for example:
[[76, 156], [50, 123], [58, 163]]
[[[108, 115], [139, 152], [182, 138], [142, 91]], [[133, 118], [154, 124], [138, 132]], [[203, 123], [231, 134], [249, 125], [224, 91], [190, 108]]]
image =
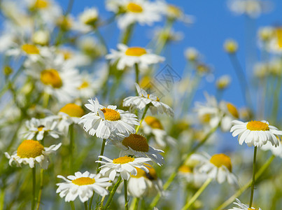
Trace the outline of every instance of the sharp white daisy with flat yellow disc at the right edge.
[[240, 145], [245, 142], [248, 146], [253, 145], [261, 147], [262, 145], [267, 144], [267, 141], [270, 141], [274, 146], [279, 145], [279, 136], [282, 135], [282, 131], [269, 125], [265, 120], [252, 120], [246, 123], [239, 120], [233, 120], [232, 124], [233, 126], [231, 127], [230, 132], [232, 132], [233, 137], [238, 136]]

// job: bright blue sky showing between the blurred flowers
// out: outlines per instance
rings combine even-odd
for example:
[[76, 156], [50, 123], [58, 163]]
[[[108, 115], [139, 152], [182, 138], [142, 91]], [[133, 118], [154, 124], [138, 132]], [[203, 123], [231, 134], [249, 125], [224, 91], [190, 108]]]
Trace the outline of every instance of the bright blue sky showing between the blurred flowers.
[[[60, 0], [59, 3], [63, 8], [67, 7], [68, 0]], [[230, 74], [232, 77], [232, 84], [223, 95], [223, 99], [236, 104], [237, 106], [243, 106], [241, 92], [239, 92], [239, 83], [237, 77], [232, 69], [229, 57], [223, 51], [223, 42], [226, 38], [234, 38], [239, 43], [238, 57], [241, 65], [246, 66], [246, 46], [254, 49], [256, 45], [256, 30], [259, 27], [267, 25], [281, 25], [282, 21], [282, 1], [273, 0], [274, 9], [270, 13], [265, 13], [260, 18], [253, 20], [253, 29], [246, 23], [246, 17], [244, 15], [234, 15], [227, 8], [227, 1], [209, 1], [209, 0], [176, 0], [168, 1], [183, 8], [186, 14], [195, 16], [195, 23], [190, 27], [185, 26], [182, 22], [177, 22], [174, 25], [176, 31], [182, 31], [185, 35], [183, 41], [171, 45], [167, 52], [164, 54], [167, 56], [167, 63], [169, 63], [173, 69], [182, 74], [185, 67], [185, 58], [183, 52], [185, 48], [194, 47], [204, 55], [204, 61], [207, 64], [213, 66], [213, 72], [215, 78], [223, 74]], [[106, 19], [111, 16], [111, 13], [107, 12], [104, 8], [104, 1], [77, 1], [73, 3], [73, 15], [77, 15], [82, 12], [85, 7], [95, 6], [99, 8], [99, 13], [102, 19]], [[163, 25], [163, 22], [156, 23], [154, 25]], [[246, 29], [251, 37], [246, 36]], [[136, 27], [134, 32], [134, 38], [129, 45], [144, 45], [146, 46], [150, 37], [149, 32], [153, 27]], [[110, 48], [115, 48], [118, 43], [119, 33], [115, 29], [114, 25], [101, 29], [101, 34], [104, 35]], [[246, 45], [246, 43], [248, 43]], [[253, 61], [258, 60], [258, 51], [253, 51]], [[162, 67], [162, 66], [161, 66]], [[246, 70], [246, 69], [245, 69]], [[251, 69], [250, 69], [251, 70]], [[248, 73], [250, 75], [250, 73]], [[211, 94], [215, 93], [214, 83], [202, 83], [202, 89], [196, 94], [196, 99], [204, 99], [202, 94], [203, 90], [209, 90]]]

